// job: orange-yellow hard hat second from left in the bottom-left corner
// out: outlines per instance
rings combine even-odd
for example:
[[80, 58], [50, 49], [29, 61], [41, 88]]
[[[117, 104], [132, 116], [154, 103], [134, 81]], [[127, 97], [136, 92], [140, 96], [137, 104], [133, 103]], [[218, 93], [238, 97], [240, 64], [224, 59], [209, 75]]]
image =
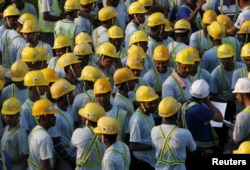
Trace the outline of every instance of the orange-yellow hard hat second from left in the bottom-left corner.
[[54, 104], [48, 99], [37, 100], [32, 106], [32, 116], [42, 116], [56, 113], [57, 111], [54, 109]]

